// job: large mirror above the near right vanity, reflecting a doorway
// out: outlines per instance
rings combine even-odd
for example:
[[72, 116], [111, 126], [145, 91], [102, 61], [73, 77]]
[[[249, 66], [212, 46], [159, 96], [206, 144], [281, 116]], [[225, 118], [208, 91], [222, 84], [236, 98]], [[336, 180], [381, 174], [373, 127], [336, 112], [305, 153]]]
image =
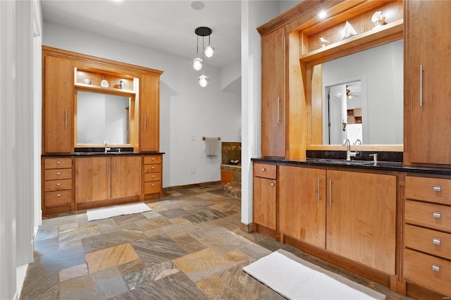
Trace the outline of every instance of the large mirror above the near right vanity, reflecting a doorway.
[[402, 39], [315, 65], [313, 74], [311, 144], [403, 143]]

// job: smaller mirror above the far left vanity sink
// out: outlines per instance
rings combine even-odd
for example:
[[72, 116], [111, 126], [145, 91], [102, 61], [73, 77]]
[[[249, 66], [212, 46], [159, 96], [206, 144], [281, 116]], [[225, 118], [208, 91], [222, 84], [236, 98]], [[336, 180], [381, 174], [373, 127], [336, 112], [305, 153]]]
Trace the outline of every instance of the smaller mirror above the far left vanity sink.
[[76, 144], [130, 144], [132, 97], [77, 91]]

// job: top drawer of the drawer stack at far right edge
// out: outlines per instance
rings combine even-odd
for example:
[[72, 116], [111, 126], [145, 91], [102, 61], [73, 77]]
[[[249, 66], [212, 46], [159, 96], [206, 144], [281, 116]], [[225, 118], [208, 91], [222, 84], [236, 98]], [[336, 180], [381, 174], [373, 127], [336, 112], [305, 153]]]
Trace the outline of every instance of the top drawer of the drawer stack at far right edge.
[[406, 198], [451, 205], [451, 180], [406, 176]]

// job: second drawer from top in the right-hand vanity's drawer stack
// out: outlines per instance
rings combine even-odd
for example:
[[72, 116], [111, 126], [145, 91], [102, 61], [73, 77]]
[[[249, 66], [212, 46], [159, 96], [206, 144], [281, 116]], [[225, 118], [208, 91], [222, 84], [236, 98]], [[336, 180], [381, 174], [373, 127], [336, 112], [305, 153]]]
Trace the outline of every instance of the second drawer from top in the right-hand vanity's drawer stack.
[[451, 232], [451, 206], [406, 201], [405, 223]]

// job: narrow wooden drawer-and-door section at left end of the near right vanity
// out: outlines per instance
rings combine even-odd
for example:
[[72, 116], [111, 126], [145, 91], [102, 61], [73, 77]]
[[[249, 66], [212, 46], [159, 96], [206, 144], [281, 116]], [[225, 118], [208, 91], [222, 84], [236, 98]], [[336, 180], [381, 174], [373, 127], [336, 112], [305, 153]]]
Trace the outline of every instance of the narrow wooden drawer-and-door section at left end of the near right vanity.
[[[276, 238], [277, 228], [277, 166], [268, 163], [254, 163], [254, 226], [271, 230]], [[264, 229], [263, 229], [264, 230]]]

